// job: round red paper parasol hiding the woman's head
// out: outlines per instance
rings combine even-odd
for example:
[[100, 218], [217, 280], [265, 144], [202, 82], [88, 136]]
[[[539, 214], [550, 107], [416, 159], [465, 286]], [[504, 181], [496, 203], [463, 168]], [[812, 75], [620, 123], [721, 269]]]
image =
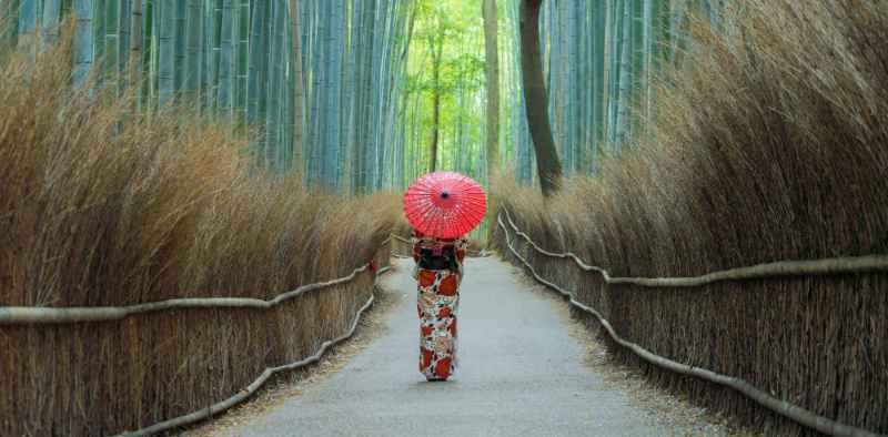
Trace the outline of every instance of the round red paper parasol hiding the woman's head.
[[428, 173], [404, 193], [404, 214], [410, 224], [438, 238], [467, 234], [484, 220], [486, 211], [484, 190], [460, 173]]

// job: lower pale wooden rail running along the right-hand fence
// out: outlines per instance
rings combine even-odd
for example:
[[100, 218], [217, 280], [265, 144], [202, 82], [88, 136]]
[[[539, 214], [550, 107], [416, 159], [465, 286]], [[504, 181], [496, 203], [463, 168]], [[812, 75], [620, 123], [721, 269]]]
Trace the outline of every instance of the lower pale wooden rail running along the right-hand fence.
[[[503, 211], [505, 211], [505, 210], [503, 210]], [[508, 214], [508, 213], [506, 213], [506, 214]], [[674, 362], [674, 360], [672, 360], [669, 358], [656, 355], [656, 354], [652, 353], [650, 350], [647, 350], [644, 347], [642, 347], [642, 346], [639, 346], [639, 345], [637, 345], [635, 343], [632, 343], [632, 342], [628, 342], [628, 341], [624, 339], [623, 337], [620, 337], [616, 333], [614, 327], [610, 326], [610, 323], [606, 318], [604, 318], [604, 316], [602, 316], [601, 313], [595, 311], [595, 308], [593, 308], [591, 306], [587, 306], [587, 305], [584, 305], [583, 303], [576, 301], [576, 298], [574, 297], [573, 293], [571, 293], [571, 292], [559, 287], [558, 285], [556, 285], [556, 284], [554, 284], [552, 282], [548, 282], [548, 281], [544, 280], [542, 276], [539, 276], [539, 274], [536, 273], [536, 270], [534, 270], [534, 267], [531, 265], [531, 263], [527, 262], [526, 258], [521, 256], [521, 254], [518, 254], [518, 252], [512, 246], [512, 242], [509, 241], [509, 237], [508, 237], [508, 231], [506, 230], [505, 224], [503, 224], [502, 215], [497, 215], [496, 220], [497, 220], [497, 222], [500, 224], [500, 227], [503, 228], [503, 233], [505, 235], [505, 241], [506, 241], [506, 246], [512, 252], [512, 254], [515, 257], [517, 257], [531, 271], [531, 274], [534, 276], [534, 278], [536, 281], [538, 281], [541, 284], [543, 284], [543, 285], [545, 285], [545, 286], [558, 292], [563, 296], [567, 297], [569, 299], [571, 305], [573, 305], [573, 306], [575, 306], [575, 307], [577, 307], [577, 308], [579, 308], [579, 309], [582, 309], [582, 311], [584, 311], [586, 313], [589, 313], [593, 316], [595, 316], [595, 318], [598, 319], [598, 323], [601, 323], [601, 325], [605, 328], [605, 331], [607, 331], [607, 334], [610, 336], [610, 338], [614, 339], [614, 342], [616, 342], [620, 346], [626, 347], [627, 349], [632, 350], [635, 355], [639, 356], [642, 359], [644, 359], [644, 360], [646, 360], [646, 362], [648, 362], [650, 364], [654, 364], [654, 365], [656, 365], [658, 367], [665, 368], [667, 370], [672, 370], [672, 372], [679, 373], [679, 374], [683, 374], [683, 375], [694, 376], [694, 377], [697, 377], [697, 378], [700, 378], [700, 379], [708, 380], [710, 383], [715, 383], [715, 384], [719, 384], [719, 385], [723, 385], [723, 386], [730, 387], [730, 388], [739, 392], [740, 394], [745, 395], [749, 399], [756, 402], [758, 405], [761, 405], [763, 407], [765, 407], [765, 408], [767, 408], [767, 409], [769, 409], [769, 410], [771, 410], [774, 413], [777, 413], [777, 414], [779, 414], [779, 415], [781, 415], [784, 417], [787, 417], [787, 418], [789, 418], [791, 420], [795, 420], [795, 421], [797, 421], [797, 423], [799, 423], [799, 424], [801, 424], [804, 426], [807, 426], [807, 427], [809, 427], [811, 429], [816, 429], [816, 430], [818, 430], [820, 433], [824, 433], [824, 434], [827, 434], [827, 435], [830, 435], [830, 436], [878, 437], [877, 434], [870, 433], [869, 430], [857, 428], [857, 427], [845, 425], [845, 424], [840, 424], [838, 421], [835, 421], [833, 419], [826, 418], [824, 416], [819, 416], [819, 415], [817, 415], [817, 414], [815, 414], [815, 413], [813, 413], [813, 411], [810, 411], [808, 409], [805, 409], [803, 407], [799, 407], [799, 406], [797, 406], [797, 405], [795, 405], [793, 403], [788, 403], [786, 400], [775, 398], [775, 397], [768, 395], [766, 392], [756, 388], [755, 386], [753, 386], [751, 384], [747, 383], [744, 379], [736, 378], [736, 377], [733, 377], [733, 376], [722, 375], [722, 374], [718, 374], [718, 373], [715, 373], [715, 372], [712, 372], [712, 370], [708, 370], [708, 369], [705, 369], [705, 368], [694, 367], [694, 366], [690, 366], [690, 365], [687, 365], [687, 364], [682, 364], [682, 363], [678, 363], [678, 362]], [[516, 231], [516, 234], [517, 234], [517, 227], [514, 225], [514, 223], [511, 222], [511, 218], [509, 218], [509, 224], [512, 225], [513, 230]], [[527, 240], [534, 246], [534, 248], [538, 247], [526, 236], [526, 234], [525, 234], [524, 238]], [[574, 257], [574, 260], [576, 261], [577, 258]], [[583, 266], [581, 265], [581, 268]], [[602, 273], [605, 273], [605, 272], [602, 271]]]

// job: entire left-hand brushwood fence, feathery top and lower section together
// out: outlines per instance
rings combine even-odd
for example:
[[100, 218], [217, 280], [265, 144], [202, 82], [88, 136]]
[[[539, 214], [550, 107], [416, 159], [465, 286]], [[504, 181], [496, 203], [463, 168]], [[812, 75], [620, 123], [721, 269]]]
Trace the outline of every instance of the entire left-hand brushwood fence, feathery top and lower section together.
[[[212, 119], [72, 89], [63, 41], [0, 63], [0, 306], [270, 298], [387, 262], [396, 195], [311, 193], [252, 167], [251, 139]], [[0, 435], [107, 435], [203, 408], [341, 335], [372, 287], [364, 273], [270, 311], [0, 326]]]

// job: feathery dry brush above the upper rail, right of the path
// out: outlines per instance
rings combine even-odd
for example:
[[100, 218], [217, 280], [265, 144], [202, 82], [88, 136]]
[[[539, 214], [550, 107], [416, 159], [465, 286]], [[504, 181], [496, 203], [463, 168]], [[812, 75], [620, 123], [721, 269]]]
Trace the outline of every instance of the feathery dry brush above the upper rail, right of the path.
[[503, 180], [507, 206], [619, 275], [886, 253], [888, 4], [734, 13], [730, 37], [697, 22], [692, 61], [658, 83], [650, 136], [545, 209]]

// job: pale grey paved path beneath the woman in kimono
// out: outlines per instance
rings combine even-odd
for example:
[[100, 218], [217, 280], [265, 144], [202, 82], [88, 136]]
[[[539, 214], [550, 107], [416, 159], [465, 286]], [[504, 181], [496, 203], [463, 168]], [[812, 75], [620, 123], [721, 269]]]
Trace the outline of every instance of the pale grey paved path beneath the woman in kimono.
[[[556, 305], [502, 261], [471, 258], [461, 288], [460, 368], [450, 382], [417, 372], [412, 260], [384, 286], [402, 295], [389, 331], [342, 372], [232, 436], [663, 436], [623, 393], [584, 366]], [[693, 431], [692, 431], [693, 433]]]

